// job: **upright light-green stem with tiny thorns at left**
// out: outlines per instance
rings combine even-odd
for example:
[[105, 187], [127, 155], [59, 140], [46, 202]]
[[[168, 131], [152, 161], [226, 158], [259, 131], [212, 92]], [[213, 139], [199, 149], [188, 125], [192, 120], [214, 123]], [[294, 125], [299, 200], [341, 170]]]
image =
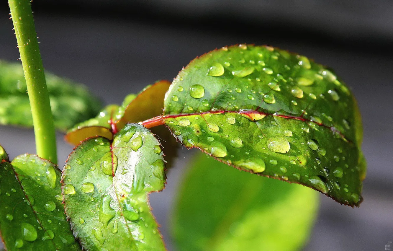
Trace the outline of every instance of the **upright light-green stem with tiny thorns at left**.
[[37, 155], [57, 164], [55, 127], [30, 0], [9, 0], [8, 4], [33, 114]]

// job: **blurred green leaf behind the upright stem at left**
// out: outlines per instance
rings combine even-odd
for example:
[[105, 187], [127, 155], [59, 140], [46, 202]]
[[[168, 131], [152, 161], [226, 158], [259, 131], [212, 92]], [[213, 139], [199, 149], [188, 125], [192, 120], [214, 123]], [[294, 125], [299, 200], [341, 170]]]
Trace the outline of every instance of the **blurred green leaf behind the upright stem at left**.
[[[66, 131], [101, 109], [101, 102], [83, 85], [50, 73], [46, 80], [57, 129]], [[0, 124], [33, 125], [23, 68], [17, 63], [0, 61]]]

